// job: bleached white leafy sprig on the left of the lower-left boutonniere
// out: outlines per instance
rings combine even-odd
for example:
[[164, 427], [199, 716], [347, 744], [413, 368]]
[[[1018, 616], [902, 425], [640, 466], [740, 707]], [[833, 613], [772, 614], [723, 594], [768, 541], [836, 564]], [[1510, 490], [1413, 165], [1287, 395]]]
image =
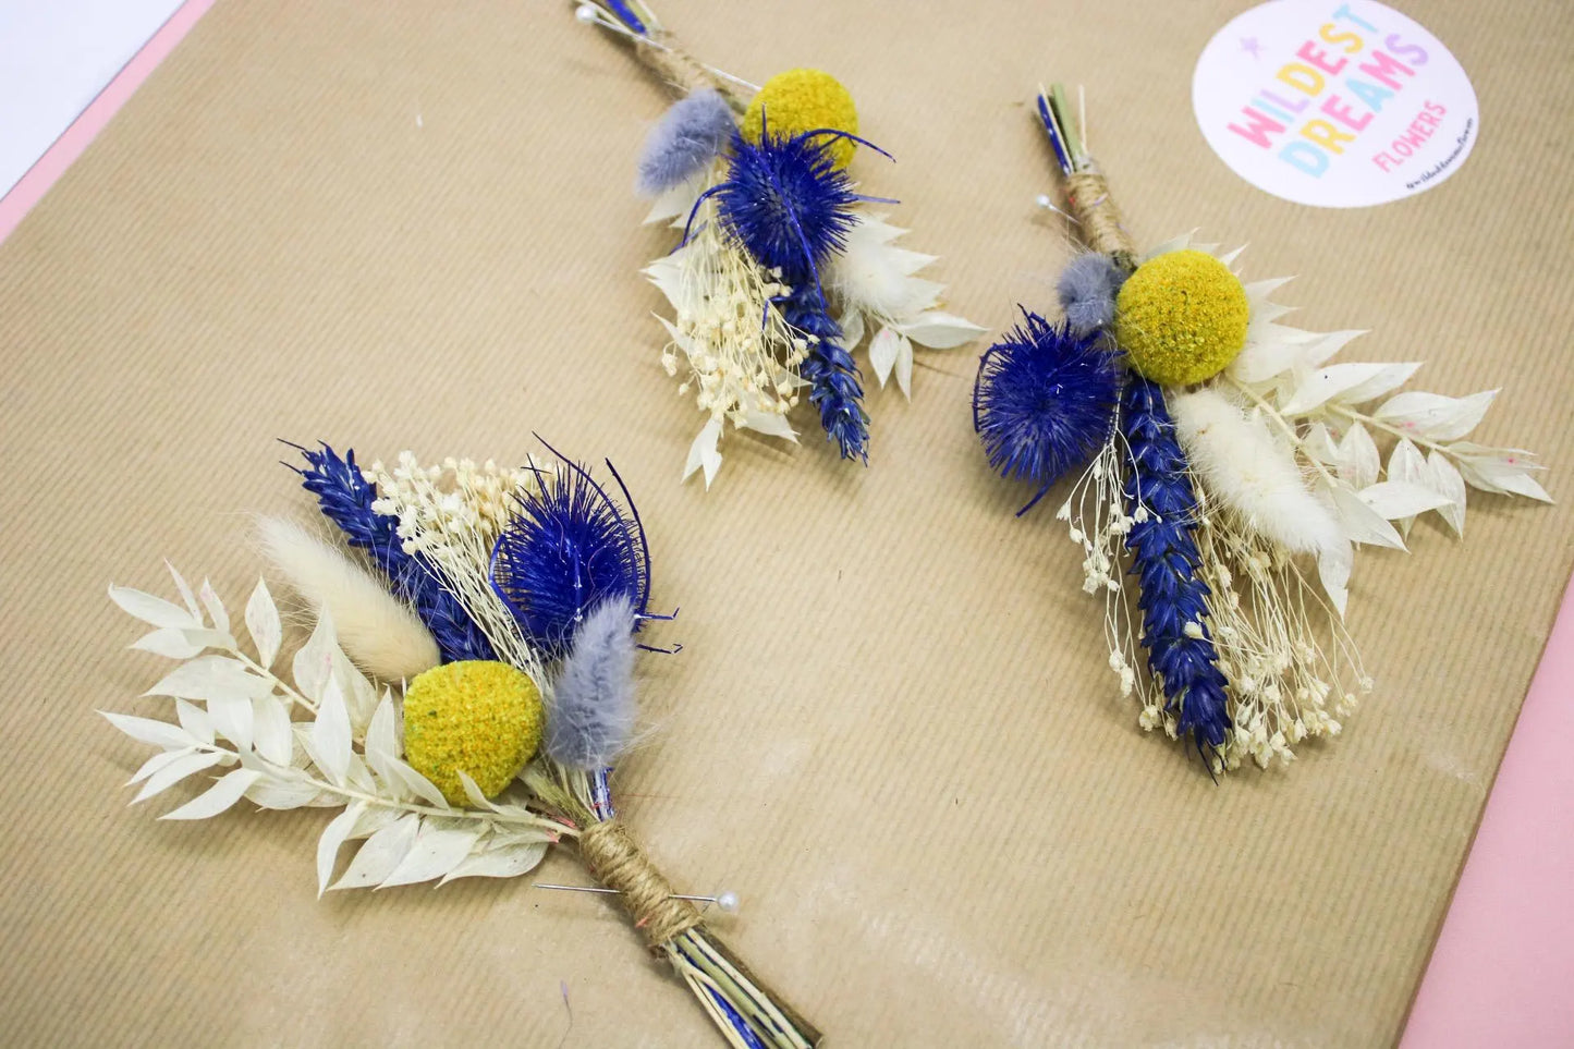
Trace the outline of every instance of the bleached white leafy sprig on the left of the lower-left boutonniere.
[[[342, 808], [316, 849], [318, 893], [513, 877], [534, 869], [546, 846], [571, 828], [537, 811], [523, 788], [486, 800], [461, 772], [471, 806], [453, 806], [403, 756], [392, 693], [376, 687], [340, 651], [329, 616], [296, 652], [291, 677], [274, 671], [282, 625], [266, 583], [246, 605], [252, 652], [231, 632], [224, 603], [205, 581], [194, 595], [175, 569], [181, 603], [129, 588], [110, 599], [154, 630], [132, 647], [179, 660], [148, 696], [173, 704], [173, 720], [109, 714], [115, 728], [159, 748], [131, 778], [134, 803], [190, 777], [225, 770], [195, 799], [161, 819], [206, 819], [241, 799], [261, 808]], [[293, 720], [301, 710], [310, 720]], [[360, 841], [335, 879], [346, 843]]]

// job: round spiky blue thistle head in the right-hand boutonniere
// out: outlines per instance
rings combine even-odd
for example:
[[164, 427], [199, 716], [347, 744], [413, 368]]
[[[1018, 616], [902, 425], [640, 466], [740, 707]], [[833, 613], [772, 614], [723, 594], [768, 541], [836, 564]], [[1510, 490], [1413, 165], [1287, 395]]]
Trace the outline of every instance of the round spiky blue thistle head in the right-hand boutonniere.
[[979, 358], [973, 428], [1003, 477], [1040, 485], [1031, 507], [1110, 435], [1119, 367], [1097, 332], [1018, 309], [1023, 321]]

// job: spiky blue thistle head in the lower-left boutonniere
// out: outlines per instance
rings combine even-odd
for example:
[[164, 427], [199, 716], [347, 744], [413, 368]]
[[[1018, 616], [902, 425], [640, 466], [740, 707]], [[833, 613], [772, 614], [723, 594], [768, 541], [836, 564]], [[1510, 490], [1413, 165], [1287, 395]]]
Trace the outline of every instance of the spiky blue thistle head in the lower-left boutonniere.
[[515, 515], [491, 558], [493, 589], [524, 636], [552, 657], [568, 652], [584, 617], [622, 597], [644, 616], [650, 597], [650, 548], [639, 512], [608, 461], [626, 509], [590, 473], [562, 460], [537, 471], [537, 491], [515, 498]]

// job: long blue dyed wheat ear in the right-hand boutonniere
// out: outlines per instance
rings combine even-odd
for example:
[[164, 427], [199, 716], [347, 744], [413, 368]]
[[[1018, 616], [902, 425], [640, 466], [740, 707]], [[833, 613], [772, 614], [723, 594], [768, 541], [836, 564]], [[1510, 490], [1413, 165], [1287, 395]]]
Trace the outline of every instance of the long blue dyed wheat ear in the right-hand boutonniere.
[[[1132, 573], [1138, 576], [1143, 610], [1143, 647], [1147, 666], [1163, 684], [1166, 709], [1176, 715], [1180, 736], [1192, 734], [1203, 761], [1225, 747], [1229, 712], [1218, 651], [1207, 632], [1207, 584], [1198, 578], [1196, 493], [1187, 476], [1185, 452], [1174, 436], [1174, 422], [1163, 391], [1140, 375], [1127, 378], [1121, 397], [1121, 432], [1132, 450], [1125, 477], [1129, 515], [1146, 510], [1132, 524], [1125, 547]], [[1199, 636], [1185, 628], [1196, 624]]]

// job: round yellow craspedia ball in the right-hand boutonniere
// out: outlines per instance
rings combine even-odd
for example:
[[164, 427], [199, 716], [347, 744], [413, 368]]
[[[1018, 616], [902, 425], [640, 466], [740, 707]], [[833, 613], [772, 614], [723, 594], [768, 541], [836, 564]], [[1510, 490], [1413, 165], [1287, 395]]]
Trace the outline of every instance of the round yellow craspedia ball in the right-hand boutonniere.
[[1247, 345], [1251, 307], [1229, 266], [1192, 249], [1149, 258], [1114, 299], [1114, 340], [1138, 375], [1166, 386], [1212, 378]]

